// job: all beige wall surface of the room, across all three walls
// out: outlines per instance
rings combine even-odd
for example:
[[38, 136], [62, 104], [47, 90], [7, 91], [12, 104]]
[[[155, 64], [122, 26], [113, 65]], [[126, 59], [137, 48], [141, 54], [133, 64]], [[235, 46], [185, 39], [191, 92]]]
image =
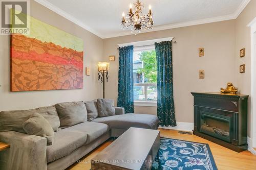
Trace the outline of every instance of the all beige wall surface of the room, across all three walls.
[[[10, 92], [10, 38], [0, 36], [0, 111], [29, 109], [58, 102], [91, 100], [102, 95], [102, 84], [97, 80], [97, 62], [110, 63], [110, 79], [106, 83], [106, 98], [117, 102], [118, 50], [117, 44], [148, 39], [175, 37], [173, 46], [174, 97], [178, 122], [193, 122], [191, 91], [218, 91], [231, 81], [241, 93], [250, 94], [250, 30], [246, 25], [255, 17], [256, 1], [236, 20], [169, 29], [102, 40], [73, 22], [31, 1], [31, 16], [49, 23], [84, 41], [84, 68], [91, 67], [91, 76], [84, 76], [83, 89]], [[198, 47], [205, 48], [205, 57], [198, 57]], [[239, 50], [246, 47], [246, 57], [239, 58]], [[246, 64], [246, 72], [239, 74], [239, 65]], [[205, 79], [198, 78], [198, 70], [205, 70]], [[85, 69], [84, 69], [85, 70]], [[84, 74], [85, 75], [85, 74]], [[135, 107], [137, 113], [156, 114], [156, 107]]]

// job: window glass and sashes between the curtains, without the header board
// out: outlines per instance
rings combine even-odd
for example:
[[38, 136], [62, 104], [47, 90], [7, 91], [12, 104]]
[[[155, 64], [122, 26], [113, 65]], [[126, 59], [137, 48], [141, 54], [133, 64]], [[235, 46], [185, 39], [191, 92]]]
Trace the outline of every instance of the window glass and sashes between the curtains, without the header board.
[[133, 55], [134, 101], [157, 102], [157, 61], [154, 46], [135, 49]]

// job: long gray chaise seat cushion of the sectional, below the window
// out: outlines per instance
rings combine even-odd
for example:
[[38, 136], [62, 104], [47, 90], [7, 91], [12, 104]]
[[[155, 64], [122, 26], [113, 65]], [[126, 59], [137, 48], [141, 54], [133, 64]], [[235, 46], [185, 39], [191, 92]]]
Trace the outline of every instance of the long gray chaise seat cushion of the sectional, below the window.
[[98, 117], [93, 122], [104, 123], [115, 129], [146, 128], [157, 129], [159, 119], [156, 115], [151, 114], [134, 114], [127, 113], [108, 117]]

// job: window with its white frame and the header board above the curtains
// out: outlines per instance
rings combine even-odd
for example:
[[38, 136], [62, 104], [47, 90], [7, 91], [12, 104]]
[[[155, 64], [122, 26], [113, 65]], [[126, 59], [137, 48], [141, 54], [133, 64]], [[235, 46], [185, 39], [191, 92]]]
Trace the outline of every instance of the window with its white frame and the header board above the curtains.
[[157, 62], [154, 44], [155, 42], [172, 41], [173, 38], [166, 37], [118, 44], [119, 47], [134, 45], [133, 78], [135, 106], [157, 106]]

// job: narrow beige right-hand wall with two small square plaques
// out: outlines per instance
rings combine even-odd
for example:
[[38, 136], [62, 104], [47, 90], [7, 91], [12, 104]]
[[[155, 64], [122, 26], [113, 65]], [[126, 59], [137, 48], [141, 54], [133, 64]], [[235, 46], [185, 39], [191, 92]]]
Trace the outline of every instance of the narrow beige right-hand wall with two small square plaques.
[[[256, 17], [256, 0], [251, 0], [243, 12], [236, 19], [236, 72], [238, 89], [240, 93], [250, 95], [251, 83], [251, 37], [248, 23]], [[239, 51], [246, 48], [246, 56], [239, 57]], [[245, 64], [245, 72], [239, 73], [239, 66]], [[248, 135], [250, 136], [250, 100], [248, 102]]]

